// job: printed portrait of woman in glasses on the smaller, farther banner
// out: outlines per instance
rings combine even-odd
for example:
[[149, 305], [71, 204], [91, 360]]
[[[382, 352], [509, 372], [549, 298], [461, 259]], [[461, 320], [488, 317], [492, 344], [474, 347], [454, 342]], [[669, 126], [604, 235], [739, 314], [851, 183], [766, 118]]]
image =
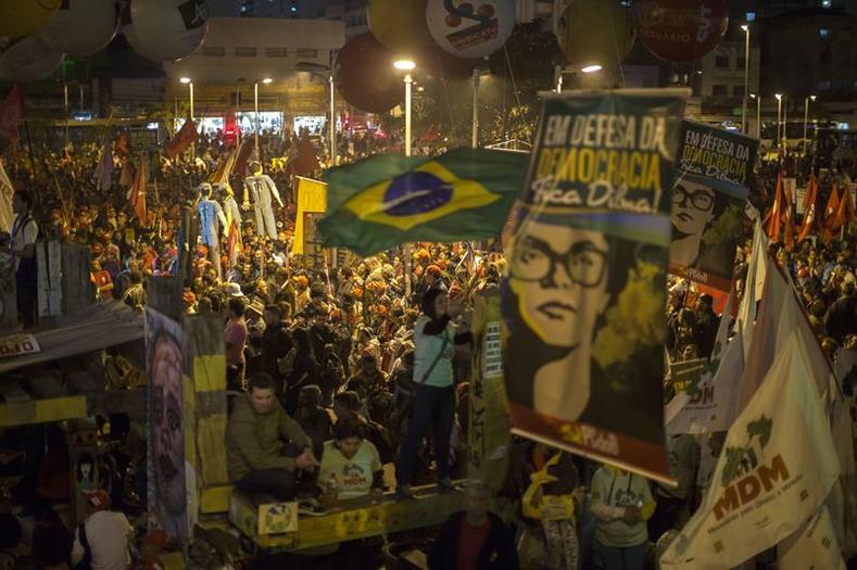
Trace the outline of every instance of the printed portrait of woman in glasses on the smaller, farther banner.
[[[711, 188], [679, 179], [672, 189], [672, 243], [669, 248], [671, 266], [722, 274], [721, 252], [716, 244], [716, 250], [706, 251], [713, 244], [706, 243], [705, 232], [728, 205], [729, 200]], [[734, 250], [734, 245], [731, 245], [731, 249]], [[727, 263], [731, 264], [732, 259], [728, 254], [729, 252]]]

